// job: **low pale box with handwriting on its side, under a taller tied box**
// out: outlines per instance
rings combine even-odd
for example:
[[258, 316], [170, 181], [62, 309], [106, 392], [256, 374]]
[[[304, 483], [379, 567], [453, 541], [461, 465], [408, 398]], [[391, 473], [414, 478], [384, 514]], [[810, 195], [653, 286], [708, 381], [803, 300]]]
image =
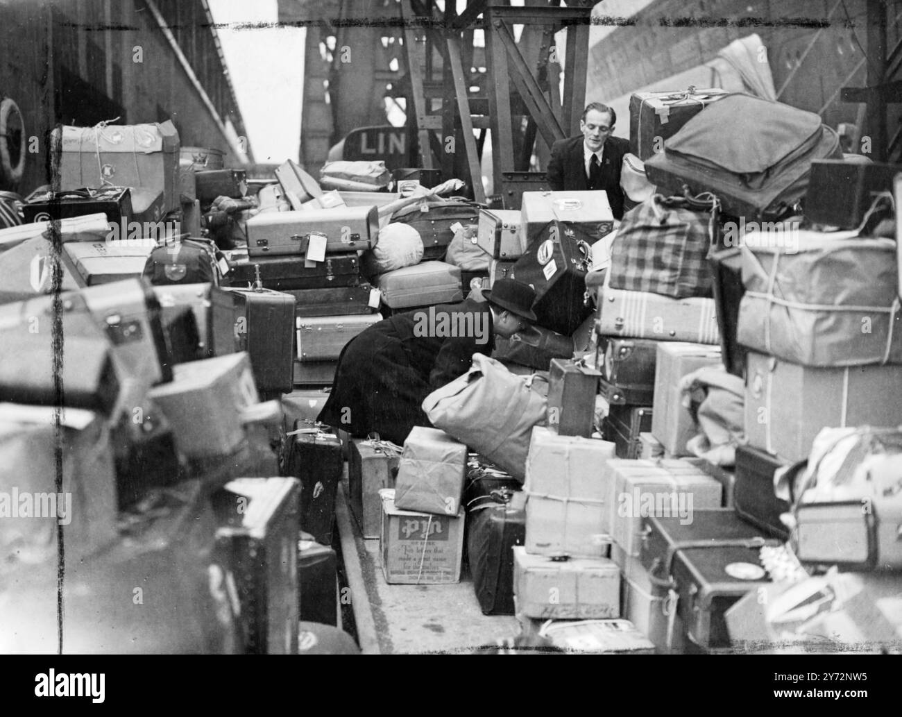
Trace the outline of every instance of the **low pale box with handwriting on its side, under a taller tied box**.
[[620, 568], [605, 557], [552, 560], [513, 548], [517, 607], [530, 618], [620, 617]]

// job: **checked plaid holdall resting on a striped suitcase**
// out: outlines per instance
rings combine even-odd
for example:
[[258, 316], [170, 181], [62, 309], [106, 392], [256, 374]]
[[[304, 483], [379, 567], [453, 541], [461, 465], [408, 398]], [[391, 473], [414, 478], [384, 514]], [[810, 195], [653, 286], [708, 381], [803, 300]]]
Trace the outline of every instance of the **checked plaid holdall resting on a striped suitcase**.
[[705, 257], [713, 244], [717, 198], [653, 195], [623, 217], [611, 256], [613, 289], [672, 299], [712, 294]]

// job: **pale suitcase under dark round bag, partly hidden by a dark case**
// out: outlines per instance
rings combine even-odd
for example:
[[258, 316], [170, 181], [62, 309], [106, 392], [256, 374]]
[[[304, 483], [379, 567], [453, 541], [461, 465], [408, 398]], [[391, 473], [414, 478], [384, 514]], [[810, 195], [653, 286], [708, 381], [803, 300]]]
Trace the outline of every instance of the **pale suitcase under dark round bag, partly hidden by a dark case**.
[[153, 293], [163, 317], [181, 307], [194, 312], [198, 358], [235, 353], [235, 299], [228, 291], [211, 284], [170, 284], [153, 287]]

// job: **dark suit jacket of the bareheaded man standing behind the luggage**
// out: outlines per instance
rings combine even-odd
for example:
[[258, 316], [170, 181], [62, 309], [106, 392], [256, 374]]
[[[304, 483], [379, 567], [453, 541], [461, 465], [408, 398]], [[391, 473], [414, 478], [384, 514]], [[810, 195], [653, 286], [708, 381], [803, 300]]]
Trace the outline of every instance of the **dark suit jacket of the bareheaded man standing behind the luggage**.
[[[584, 191], [589, 188], [585, 176], [584, 137], [582, 134], [558, 140], [551, 147], [548, 161], [548, 185], [554, 191], [565, 189]], [[615, 219], [623, 218], [623, 190], [620, 186], [623, 155], [630, 151], [630, 142], [621, 137], [608, 137], [602, 155], [602, 184], [608, 193], [608, 203]]]

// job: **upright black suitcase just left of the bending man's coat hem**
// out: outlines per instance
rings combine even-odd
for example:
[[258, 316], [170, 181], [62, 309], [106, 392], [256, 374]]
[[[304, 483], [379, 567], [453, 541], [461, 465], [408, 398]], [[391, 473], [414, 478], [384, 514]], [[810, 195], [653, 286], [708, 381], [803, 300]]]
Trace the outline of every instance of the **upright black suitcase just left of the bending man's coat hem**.
[[295, 421], [285, 472], [300, 479], [300, 529], [324, 546], [332, 545], [338, 482], [345, 470], [341, 441], [322, 427]]

